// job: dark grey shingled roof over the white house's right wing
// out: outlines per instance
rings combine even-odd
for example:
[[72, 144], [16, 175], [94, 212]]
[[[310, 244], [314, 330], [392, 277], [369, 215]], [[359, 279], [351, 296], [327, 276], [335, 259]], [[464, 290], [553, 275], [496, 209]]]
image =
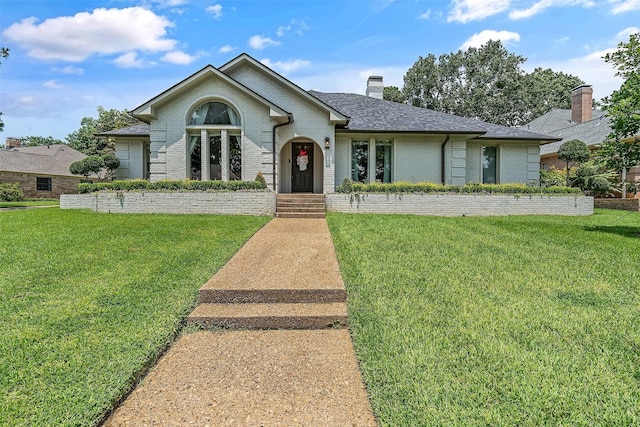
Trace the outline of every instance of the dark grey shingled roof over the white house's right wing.
[[555, 141], [557, 138], [527, 132], [426, 108], [413, 107], [353, 93], [310, 91], [351, 120], [346, 129], [373, 132], [477, 133], [480, 138]]

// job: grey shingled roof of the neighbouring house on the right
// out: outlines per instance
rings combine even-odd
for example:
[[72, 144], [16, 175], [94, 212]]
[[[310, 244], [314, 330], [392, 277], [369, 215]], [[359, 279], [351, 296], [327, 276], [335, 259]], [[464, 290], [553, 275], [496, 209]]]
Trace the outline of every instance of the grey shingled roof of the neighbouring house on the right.
[[594, 110], [593, 117], [595, 118], [584, 123], [574, 123], [571, 121], [571, 110], [556, 108], [522, 126], [522, 129], [560, 138], [559, 141], [540, 147], [541, 156], [550, 156], [556, 154], [562, 144], [572, 139], [579, 139], [589, 147], [597, 146], [606, 140], [611, 133], [609, 119], [600, 110]]

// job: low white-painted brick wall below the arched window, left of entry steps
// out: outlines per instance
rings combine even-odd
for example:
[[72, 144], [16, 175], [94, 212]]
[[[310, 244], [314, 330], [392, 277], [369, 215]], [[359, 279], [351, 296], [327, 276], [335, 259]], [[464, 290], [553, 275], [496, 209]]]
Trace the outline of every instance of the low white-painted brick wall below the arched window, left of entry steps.
[[273, 215], [272, 191], [229, 192], [96, 192], [64, 194], [60, 209], [91, 209], [102, 213]]

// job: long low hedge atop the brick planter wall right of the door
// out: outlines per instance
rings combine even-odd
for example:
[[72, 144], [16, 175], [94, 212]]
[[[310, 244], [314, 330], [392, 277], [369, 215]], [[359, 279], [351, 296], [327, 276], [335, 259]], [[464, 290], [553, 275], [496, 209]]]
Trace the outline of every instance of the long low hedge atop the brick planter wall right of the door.
[[343, 184], [336, 190], [338, 193], [454, 193], [454, 194], [581, 194], [579, 188], [564, 186], [534, 187], [526, 184], [478, 184], [443, 185], [433, 182], [379, 182], [362, 184], [358, 182]]

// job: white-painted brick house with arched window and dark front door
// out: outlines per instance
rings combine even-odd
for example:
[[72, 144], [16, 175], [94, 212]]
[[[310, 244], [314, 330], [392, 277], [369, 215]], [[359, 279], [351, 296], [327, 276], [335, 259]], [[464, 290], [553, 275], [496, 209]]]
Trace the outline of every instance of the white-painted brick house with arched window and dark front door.
[[[149, 126], [116, 143], [117, 177], [254, 180], [278, 193], [359, 182], [535, 183], [558, 138], [367, 95], [305, 91], [247, 54], [208, 65], [132, 111]], [[147, 162], [149, 166], [147, 167]]]

